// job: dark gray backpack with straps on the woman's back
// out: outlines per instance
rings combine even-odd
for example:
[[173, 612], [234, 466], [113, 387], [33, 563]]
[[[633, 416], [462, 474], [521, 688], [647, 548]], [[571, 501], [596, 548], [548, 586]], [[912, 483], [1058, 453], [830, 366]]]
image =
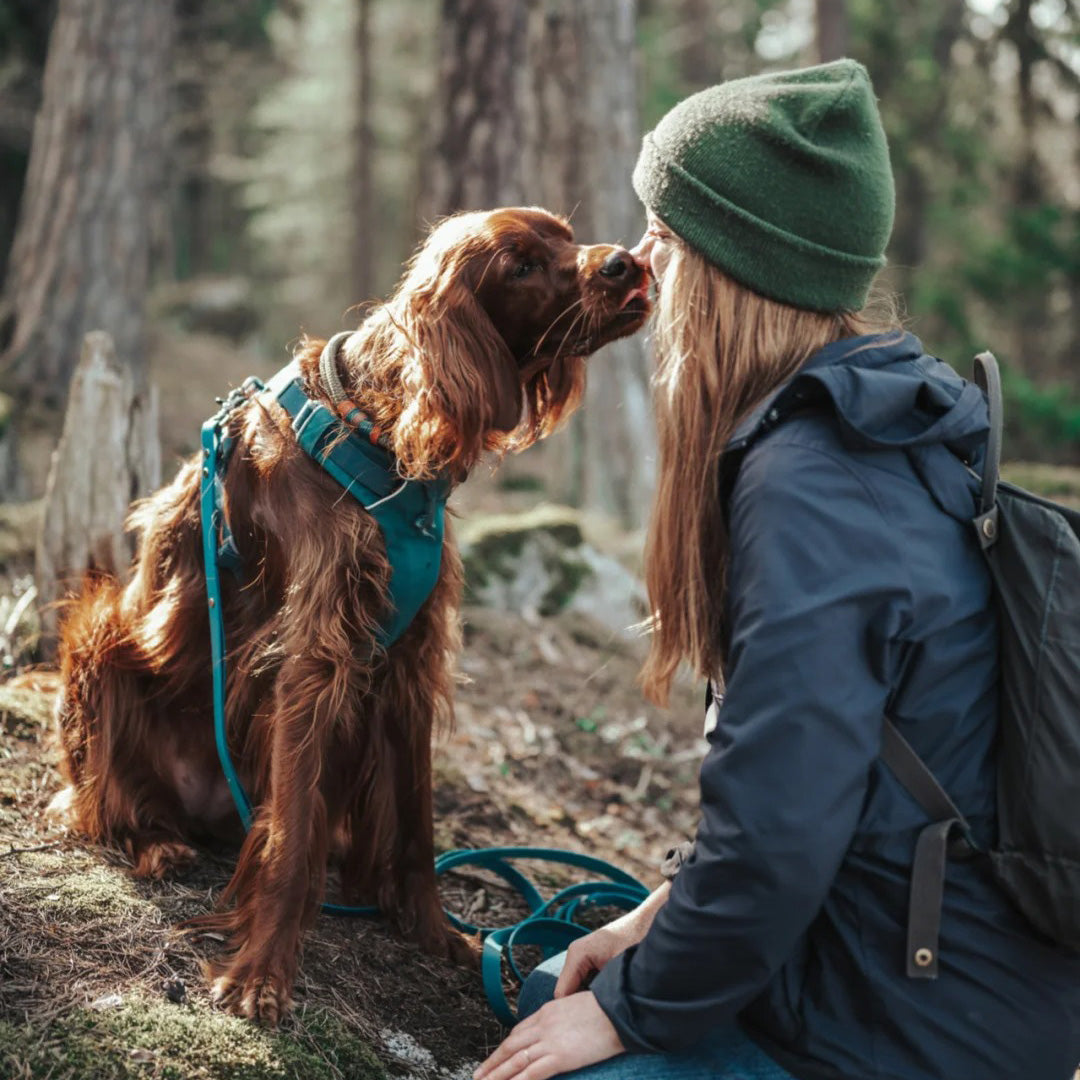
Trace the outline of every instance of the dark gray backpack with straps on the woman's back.
[[[986, 854], [1028, 921], [1080, 949], [1080, 511], [999, 483], [1001, 380], [988, 352], [975, 357], [975, 382], [987, 395], [990, 430], [977, 507], [964, 518], [990, 570], [1001, 640], [999, 834]], [[913, 457], [935, 498], [934, 470], [964, 469], [936, 449], [933, 459]], [[963, 814], [888, 719], [881, 757], [933, 820], [916, 846], [907, 936], [907, 974], [933, 978], [945, 860], [970, 856], [974, 845]]]

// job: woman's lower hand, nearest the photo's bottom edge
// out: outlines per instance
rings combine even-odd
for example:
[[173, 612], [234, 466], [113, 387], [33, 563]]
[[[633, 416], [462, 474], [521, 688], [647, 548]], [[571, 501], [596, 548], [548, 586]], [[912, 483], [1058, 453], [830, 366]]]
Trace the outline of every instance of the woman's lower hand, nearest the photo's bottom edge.
[[585, 990], [549, 1001], [523, 1020], [473, 1080], [548, 1080], [607, 1061], [624, 1049], [611, 1021]]

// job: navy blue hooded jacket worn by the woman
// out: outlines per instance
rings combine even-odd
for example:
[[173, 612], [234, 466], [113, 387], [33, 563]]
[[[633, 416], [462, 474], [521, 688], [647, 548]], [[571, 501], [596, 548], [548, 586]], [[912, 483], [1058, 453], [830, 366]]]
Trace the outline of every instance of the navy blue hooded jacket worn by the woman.
[[[878, 760], [886, 712], [976, 838], [996, 828], [989, 578], [912, 461], [977, 464], [986, 428], [980, 391], [896, 334], [821, 350], [729, 445], [731, 638], [694, 851], [592, 986], [629, 1050], [738, 1020], [799, 1080], [1071, 1080], [1080, 956], [984, 859], [949, 862], [940, 977], [904, 970], [927, 818]], [[935, 480], [973, 508], [959, 470]]]

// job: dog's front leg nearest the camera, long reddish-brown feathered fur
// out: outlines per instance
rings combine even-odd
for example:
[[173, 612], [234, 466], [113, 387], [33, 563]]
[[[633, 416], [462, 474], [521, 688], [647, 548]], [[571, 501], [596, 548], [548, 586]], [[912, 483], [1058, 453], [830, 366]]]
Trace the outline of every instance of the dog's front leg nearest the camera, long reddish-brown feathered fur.
[[[215, 999], [273, 1025], [288, 1010], [305, 927], [325, 891], [329, 829], [342, 815], [350, 762], [334, 752], [359, 726], [370, 685], [374, 624], [386, 568], [357, 567], [373, 523], [337, 511], [334, 528], [307, 526], [291, 544], [279, 635], [282, 661], [268, 706], [251, 718], [258, 745], [256, 820], [226, 899], [232, 955], [213, 972]], [[380, 572], [381, 571], [381, 572]]]

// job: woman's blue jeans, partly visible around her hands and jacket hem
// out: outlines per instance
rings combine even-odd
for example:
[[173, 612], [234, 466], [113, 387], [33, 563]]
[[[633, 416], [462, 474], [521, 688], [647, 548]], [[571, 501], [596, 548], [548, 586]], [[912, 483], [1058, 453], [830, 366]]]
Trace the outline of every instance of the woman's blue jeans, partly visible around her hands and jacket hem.
[[[550, 1001], [566, 954], [541, 963], [525, 981], [517, 1001], [522, 1020]], [[794, 1080], [732, 1025], [679, 1054], [620, 1054], [565, 1074], [573, 1080]]]

